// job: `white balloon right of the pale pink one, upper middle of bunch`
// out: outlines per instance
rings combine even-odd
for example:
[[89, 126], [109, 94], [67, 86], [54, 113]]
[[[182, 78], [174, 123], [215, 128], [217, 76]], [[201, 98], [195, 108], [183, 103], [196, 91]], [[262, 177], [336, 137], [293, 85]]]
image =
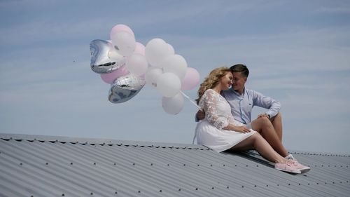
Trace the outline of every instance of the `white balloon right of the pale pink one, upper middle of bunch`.
[[160, 67], [160, 62], [170, 53], [168, 44], [162, 39], [152, 39], [145, 47], [146, 59], [153, 67]]

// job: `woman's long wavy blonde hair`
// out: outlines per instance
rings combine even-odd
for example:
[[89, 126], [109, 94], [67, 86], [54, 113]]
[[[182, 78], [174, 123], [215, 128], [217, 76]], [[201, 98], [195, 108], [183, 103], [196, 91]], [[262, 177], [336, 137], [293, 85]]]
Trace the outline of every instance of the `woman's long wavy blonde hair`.
[[204, 92], [218, 85], [221, 78], [228, 74], [228, 72], [231, 72], [230, 68], [218, 67], [209, 73], [209, 75], [204, 79], [203, 83], [200, 84], [200, 89], [198, 90], [198, 98], [196, 99], [197, 104], [200, 103], [200, 98]]

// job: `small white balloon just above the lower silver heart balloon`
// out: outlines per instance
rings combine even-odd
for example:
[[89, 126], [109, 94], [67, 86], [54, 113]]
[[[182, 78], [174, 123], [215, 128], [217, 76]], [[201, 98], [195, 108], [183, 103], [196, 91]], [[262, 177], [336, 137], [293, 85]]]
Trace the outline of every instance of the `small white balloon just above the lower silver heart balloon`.
[[130, 73], [136, 76], [141, 76], [146, 73], [148, 62], [144, 55], [134, 53], [127, 57], [125, 67]]

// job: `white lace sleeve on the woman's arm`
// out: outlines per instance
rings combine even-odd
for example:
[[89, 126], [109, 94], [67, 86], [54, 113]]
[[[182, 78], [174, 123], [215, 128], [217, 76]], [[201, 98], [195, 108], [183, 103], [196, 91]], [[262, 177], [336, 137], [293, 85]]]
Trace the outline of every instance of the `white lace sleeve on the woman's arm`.
[[207, 118], [209, 123], [218, 129], [223, 129], [228, 125], [228, 118], [217, 113], [218, 102], [220, 102], [218, 93], [209, 89], [203, 94], [200, 100], [200, 107], [204, 109], [205, 118]]

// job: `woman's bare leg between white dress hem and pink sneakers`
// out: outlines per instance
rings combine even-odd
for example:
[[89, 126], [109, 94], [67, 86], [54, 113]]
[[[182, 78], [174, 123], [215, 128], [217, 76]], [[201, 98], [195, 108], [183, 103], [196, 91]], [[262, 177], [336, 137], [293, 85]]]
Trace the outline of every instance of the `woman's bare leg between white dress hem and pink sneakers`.
[[255, 149], [258, 153], [265, 158], [267, 161], [274, 163], [286, 163], [286, 159], [279, 155], [269, 143], [259, 134], [254, 133], [250, 137], [246, 138], [231, 148], [235, 151], [246, 151]]

